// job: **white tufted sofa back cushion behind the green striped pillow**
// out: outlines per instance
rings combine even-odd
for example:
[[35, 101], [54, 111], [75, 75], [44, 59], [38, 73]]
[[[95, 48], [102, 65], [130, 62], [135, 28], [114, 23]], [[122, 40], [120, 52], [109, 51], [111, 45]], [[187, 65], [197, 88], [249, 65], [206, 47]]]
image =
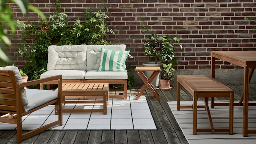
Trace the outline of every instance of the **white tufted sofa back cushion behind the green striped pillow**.
[[[101, 60], [101, 48], [125, 51], [125, 44], [114, 45], [87, 45], [87, 71], [99, 69]], [[126, 68], [126, 65], [125, 65]]]

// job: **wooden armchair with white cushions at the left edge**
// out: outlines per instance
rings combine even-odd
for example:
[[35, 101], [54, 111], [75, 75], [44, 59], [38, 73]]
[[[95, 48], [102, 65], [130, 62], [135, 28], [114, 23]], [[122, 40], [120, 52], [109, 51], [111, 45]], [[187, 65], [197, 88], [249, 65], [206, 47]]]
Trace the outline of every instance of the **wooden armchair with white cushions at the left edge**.
[[[24, 86], [53, 80], [58, 80], [58, 91], [24, 89]], [[21, 81], [22, 78], [17, 67], [0, 67], [0, 122], [17, 125], [17, 143], [56, 125], [62, 125], [62, 75], [23, 83]], [[58, 120], [35, 130], [22, 132], [21, 117], [48, 105], [58, 106]]]

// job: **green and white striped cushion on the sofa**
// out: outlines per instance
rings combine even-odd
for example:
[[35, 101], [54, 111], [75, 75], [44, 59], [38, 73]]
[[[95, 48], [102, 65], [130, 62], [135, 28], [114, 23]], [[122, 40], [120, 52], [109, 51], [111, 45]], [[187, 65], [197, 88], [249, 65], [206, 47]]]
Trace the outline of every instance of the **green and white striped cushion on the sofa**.
[[125, 61], [130, 51], [101, 50], [100, 66], [97, 71], [127, 72]]

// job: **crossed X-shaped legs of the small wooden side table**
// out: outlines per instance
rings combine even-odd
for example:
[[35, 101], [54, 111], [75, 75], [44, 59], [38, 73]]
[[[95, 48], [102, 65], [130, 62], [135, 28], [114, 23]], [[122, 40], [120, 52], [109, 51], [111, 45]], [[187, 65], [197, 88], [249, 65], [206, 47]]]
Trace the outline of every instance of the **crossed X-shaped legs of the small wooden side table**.
[[160, 100], [159, 93], [154, 88], [154, 86], [151, 84], [151, 82], [154, 80], [154, 78], [158, 75], [159, 71], [154, 71], [149, 78], [147, 78], [142, 71], [137, 72], [140, 78], [143, 80], [144, 84], [140, 88], [140, 91], [137, 93], [136, 99], [139, 99], [140, 96], [143, 94], [145, 89], [148, 87], [151, 92], [153, 93], [154, 97], [157, 98], [157, 100]]

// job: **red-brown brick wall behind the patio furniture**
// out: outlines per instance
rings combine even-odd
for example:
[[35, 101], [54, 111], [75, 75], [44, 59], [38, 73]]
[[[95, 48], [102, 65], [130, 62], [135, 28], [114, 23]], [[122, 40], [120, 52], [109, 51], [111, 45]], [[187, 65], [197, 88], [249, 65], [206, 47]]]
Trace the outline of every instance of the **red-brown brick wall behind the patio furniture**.
[[[124, 43], [131, 50], [133, 59], [128, 58], [132, 66], [147, 62], [142, 43], [145, 40], [140, 23], [151, 26], [158, 35], [172, 35], [180, 39], [183, 49], [177, 48], [175, 55], [180, 63], [178, 69], [210, 68], [212, 50], [256, 50], [254, 21], [247, 17], [256, 17], [255, 0], [61, 0], [62, 10], [68, 14], [68, 20], [81, 16], [89, 7], [105, 6], [111, 12], [109, 25], [116, 35], [108, 35], [111, 43]], [[47, 16], [52, 14], [55, 0], [30, 0]], [[15, 19], [26, 20], [13, 4]], [[38, 15], [29, 13], [28, 21], [38, 20]], [[19, 34], [12, 38], [14, 47]], [[15, 65], [22, 65], [17, 58], [17, 49], [8, 49]], [[222, 61], [219, 67], [233, 69], [234, 66]]]

